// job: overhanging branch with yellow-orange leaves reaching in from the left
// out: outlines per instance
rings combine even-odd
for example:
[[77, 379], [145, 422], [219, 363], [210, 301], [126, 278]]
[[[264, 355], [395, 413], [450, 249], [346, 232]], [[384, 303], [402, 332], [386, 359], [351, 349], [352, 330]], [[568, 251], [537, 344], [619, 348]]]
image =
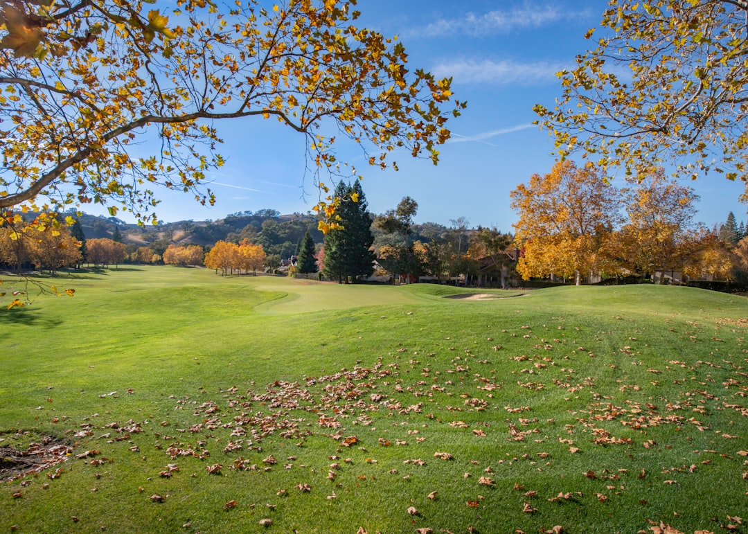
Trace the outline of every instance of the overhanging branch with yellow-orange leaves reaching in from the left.
[[[322, 191], [323, 175], [356, 174], [335, 156], [344, 140], [376, 167], [396, 168], [396, 149], [437, 162], [464, 105], [450, 79], [406, 68], [396, 38], [358, 28], [355, 3], [1, 1], [0, 216], [94, 202], [156, 221], [156, 185], [213, 203], [203, 183], [229, 119], [304, 135]], [[156, 142], [132, 150], [141, 138]], [[335, 205], [320, 203], [325, 228]]]

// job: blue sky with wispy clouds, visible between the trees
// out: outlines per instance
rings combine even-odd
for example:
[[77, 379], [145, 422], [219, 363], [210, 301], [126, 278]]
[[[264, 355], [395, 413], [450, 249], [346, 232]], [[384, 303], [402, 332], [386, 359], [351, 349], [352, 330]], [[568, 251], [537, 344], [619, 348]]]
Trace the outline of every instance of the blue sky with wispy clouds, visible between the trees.
[[[416, 221], [450, 224], [468, 218], [473, 226], [512, 231], [517, 215], [509, 191], [554, 165], [553, 141], [532, 124], [536, 103], [554, 105], [560, 95], [557, 71], [574, 66], [574, 56], [591, 45], [585, 32], [598, 26], [604, 0], [359, 0], [359, 26], [399, 35], [417, 67], [453, 77], [453, 93], [468, 108], [450, 120], [453, 138], [441, 147], [438, 166], [396, 154], [399, 171], [379, 171], [353, 161], [375, 213], [402, 197], [419, 205]], [[187, 194], [158, 191], [163, 221], [218, 219], [227, 213], [263, 208], [307, 212], [317, 200], [307, 179], [304, 138], [275, 121], [216, 124], [224, 138], [219, 152], [227, 164], [209, 174], [218, 197], [202, 207]], [[347, 151], [346, 151], [347, 153]], [[359, 158], [355, 152], [351, 152]], [[361, 158], [363, 159], [363, 158]], [[723, 177], [687, 182], [701, 200], [697, 220], [708, 227], [730, 211], [745, 220], [738, 202], [741, 184]], [[88, 212], [92, 206], [85, 206]], [[120, 218], [129, 220], [127, 214]]]

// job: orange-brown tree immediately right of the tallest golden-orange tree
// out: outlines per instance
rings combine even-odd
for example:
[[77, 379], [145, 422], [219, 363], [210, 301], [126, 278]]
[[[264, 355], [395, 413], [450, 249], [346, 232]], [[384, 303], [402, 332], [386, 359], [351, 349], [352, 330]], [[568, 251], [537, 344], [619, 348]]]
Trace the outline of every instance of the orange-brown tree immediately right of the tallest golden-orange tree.
[[621, 229], [628, 268], [649, 274], [680, 270], [696, 241], [691, 230], [699, 197], [662, 169], [632, 181], [623, 191], [628, 223]]

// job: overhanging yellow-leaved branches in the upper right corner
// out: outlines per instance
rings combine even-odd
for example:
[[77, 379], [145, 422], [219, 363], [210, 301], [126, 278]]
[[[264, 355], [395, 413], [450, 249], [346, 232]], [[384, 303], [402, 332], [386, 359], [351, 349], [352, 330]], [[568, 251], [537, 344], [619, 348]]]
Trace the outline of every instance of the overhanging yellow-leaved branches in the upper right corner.
[[672, 162], [748, 183], [747, 16], [745, 1], [610, 0], [586, 34], [597, 47], [560, 73], [557, 105], [536, 105], [542, 126], [562, 156], [592, 153], [604, 169]]

